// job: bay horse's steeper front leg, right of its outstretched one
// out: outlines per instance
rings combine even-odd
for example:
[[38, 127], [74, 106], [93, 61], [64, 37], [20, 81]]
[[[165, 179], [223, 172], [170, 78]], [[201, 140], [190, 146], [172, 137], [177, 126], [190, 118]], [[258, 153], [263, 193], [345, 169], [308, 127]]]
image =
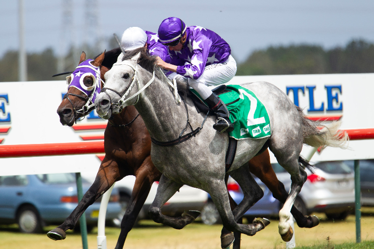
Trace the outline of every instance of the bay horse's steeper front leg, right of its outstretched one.
[[136, 180], [133, 192], [121, 222], [121, 233], [117, 241], [116, 249], [123, 248], [127, 234], [134, 227], [136, 218], [148, 197], [153, 182], [160, 179], [161, 173], [153, 165], [151, 156], [148, 156], [135, 173], [135, 176]]

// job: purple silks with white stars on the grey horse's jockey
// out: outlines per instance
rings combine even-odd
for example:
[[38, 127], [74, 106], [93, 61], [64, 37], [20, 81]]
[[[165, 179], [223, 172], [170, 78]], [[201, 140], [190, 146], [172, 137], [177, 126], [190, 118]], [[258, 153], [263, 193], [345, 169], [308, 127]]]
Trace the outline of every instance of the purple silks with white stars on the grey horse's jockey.
[[187, 39], [181, 51], [168, 49], [170, 64], [178, 66], [177, 74], [197, 79], [205, 66], [224, 63], [231, 54], [228, 43], [209, 29], [189, 26], [186, 34]]

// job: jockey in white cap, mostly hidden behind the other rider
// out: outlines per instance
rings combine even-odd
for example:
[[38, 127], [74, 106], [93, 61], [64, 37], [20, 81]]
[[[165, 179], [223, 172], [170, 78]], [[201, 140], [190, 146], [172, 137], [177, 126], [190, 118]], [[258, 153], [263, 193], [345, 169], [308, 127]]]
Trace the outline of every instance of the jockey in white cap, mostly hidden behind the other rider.
[[167, 46], [159, 42], [159, 36], [139, 27], [130, 27], [123, 32], [121, 39], [125, 51], [146, 47], [150, 55], [159, 56], [163, 61], [170, 62]]

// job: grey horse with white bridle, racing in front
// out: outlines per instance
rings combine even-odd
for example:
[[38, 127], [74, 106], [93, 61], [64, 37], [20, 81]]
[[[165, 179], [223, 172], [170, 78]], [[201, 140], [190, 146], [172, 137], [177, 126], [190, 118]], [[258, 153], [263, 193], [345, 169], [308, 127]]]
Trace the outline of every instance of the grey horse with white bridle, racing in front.
[[[148, 56], [142, 48], [125, 56], [121, 54], [117, 63], [105, 74], [106, 86], [96, 98], [95, 108], [100, 117], [109, 119], [112, 113], [119, 113], [123, 107], [134, 105], [154, 140], [172, 141], [186, 127], [187, 111], [183, 102], [176, 101], [172, 84], [154, 63], [155, 58]], [[281, 90], [270, 83], [255, 82], [241, 86], [255, 93], [265, 105], [271, 127], [269, 137], [237, 142], [235, 159], [228, 173], [243, 189], [243, 201], [231, 212], [224, 181], [228, 136], [212, 128], [215, 117], [210, 116], [203, 128], [183, 143], [174, 146], [152, 144], [152, 161], [163, 175], [149, 213], [155, 222], [176, 229], [191, 223], [197, 217], [197, 211], [189, 211], [178, 218], [161, 213], [162, 206], [187, 184], [210, 194], [225, 228], [231, 232], [255, 235], [268, 224], [266, 220], [257, 219], [248, 225], [237, 224], [236, 221], [262, 197], [263, 192], [249, 171], [241, 165], [269, 147], [278, 163], [291, 175], [291, 191], [279, 212], [278, 225], [279, 234], [288, 241], [293, 235], [287, 223], [290, 210], [307, 179], [304, 171], [306, 163], [299, 160], [303, 143], [314, 147], [344, 148], [348, 138], [338, 131], [340, 123], [309, 121]], [[186, 99], [186, 104], [189, 123], [192, 127], [200, 126], [205, 116], [196, 112], [190, 99]]]

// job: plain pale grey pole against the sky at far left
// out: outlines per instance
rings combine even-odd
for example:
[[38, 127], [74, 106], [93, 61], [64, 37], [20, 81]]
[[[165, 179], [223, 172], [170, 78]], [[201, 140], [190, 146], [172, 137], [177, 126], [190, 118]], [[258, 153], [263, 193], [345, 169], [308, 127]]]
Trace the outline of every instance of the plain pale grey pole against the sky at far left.
[[23, 0], [18, 0], [18, 21], [19, 21], [19, 49], [18, 49], [18, 81], [27, 81], [27, 58], [24, 48], [23, 28]]

